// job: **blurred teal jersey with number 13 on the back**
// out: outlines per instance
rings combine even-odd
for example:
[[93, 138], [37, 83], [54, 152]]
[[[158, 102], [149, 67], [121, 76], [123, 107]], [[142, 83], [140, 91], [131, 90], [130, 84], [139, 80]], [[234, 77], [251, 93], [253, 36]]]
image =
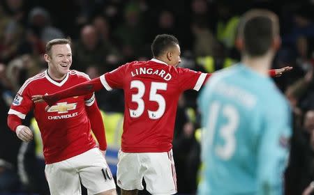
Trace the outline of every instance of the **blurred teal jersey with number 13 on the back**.
[[202, 162], [198, 194], [283, 194], [291, 111], [269, 77], [237, 64], [200, 94]]

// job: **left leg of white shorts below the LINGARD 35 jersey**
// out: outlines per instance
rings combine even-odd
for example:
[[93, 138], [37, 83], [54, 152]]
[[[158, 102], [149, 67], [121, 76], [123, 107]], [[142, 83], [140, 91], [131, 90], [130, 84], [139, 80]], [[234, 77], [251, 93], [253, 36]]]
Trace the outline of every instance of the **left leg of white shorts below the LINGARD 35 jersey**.
[[138, 157], [139, 153], [118, 153], [117, 185], [121, 189], [133, 190], [144, 189], [142, 179], [144, 169]]

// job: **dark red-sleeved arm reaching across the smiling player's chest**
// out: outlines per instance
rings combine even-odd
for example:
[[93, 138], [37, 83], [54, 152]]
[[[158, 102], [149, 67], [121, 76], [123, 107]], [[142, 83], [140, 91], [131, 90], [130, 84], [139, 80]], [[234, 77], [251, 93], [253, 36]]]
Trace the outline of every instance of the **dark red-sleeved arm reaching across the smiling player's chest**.
[[93, 93], [94, 91], [99, 91], [102, 88], [103, 84], [101, 84], [100, 77], [97, 77], [90, 81], [85, 81], [82, 84], [77, 84], [57, 93], [52, 93], [50, 95], [33, 95], [31, 97], [31, 100], [35, 103], [45, 101], [49, 106], [52, 106], [53, 104], [64, 98], [70, 98], [78, 95], [87, 95], [89, 93]]

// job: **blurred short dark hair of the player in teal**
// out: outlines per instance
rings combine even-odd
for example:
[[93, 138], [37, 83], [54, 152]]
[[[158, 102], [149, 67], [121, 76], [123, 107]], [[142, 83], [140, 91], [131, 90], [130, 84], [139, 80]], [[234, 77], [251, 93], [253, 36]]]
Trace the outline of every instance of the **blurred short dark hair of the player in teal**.
[[269, 10], [250, 10], [241, 18], [238, 30], [244, 40], [244, 52], [253, 57], [262, 56], [279, 34], [278, 17]]

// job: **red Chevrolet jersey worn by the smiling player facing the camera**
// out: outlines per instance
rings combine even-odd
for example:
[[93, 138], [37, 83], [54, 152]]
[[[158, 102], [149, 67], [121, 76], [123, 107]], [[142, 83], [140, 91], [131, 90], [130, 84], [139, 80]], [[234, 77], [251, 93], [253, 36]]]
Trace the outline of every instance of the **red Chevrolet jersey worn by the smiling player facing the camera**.
[[47, 70], [25, 81], [17, 92], [8, 114], [24, 119], [31, 109], [43, 139], [46, 164], [62, 161], [96, 147], [85, 106], [95, 102], [94, 94], [60, 100], [45, 111], [46, 103], [34, 104], [32, 95], [45, 95], [88, 81], [88, 75], [70, 70], [61, 82], [47, 75]]

